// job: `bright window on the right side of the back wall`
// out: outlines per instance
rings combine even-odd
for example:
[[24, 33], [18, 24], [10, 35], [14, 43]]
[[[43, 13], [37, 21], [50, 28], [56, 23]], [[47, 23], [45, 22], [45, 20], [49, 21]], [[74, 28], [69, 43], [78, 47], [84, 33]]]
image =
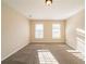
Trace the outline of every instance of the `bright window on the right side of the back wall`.
[[61, 37], [60, 24], [52, 24], [52, 39], [58, 39]]

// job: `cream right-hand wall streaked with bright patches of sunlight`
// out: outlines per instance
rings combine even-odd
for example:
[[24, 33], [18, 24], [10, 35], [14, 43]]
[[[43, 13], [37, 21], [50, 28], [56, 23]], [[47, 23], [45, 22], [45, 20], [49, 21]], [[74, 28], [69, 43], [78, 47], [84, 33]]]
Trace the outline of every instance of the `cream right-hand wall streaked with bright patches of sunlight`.
[[84, 54], [85, 12], [82, 10], [66, 20], [66, 43]]

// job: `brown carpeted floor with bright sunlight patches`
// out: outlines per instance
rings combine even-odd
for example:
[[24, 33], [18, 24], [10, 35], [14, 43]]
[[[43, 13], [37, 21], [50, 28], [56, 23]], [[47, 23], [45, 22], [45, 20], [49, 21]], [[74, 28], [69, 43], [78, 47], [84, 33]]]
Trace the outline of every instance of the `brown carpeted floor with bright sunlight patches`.
[[66, 44], [28, 44], [1, 64], [85, 64], [79, 52]]

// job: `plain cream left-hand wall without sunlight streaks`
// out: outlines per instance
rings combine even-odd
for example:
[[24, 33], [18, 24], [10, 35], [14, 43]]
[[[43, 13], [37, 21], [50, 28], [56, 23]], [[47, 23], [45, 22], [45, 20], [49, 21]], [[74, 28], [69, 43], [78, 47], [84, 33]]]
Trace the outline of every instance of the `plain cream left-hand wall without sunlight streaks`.
[[26, 17], [2, 2], [1, 60], [29, 43], [29, 23]]

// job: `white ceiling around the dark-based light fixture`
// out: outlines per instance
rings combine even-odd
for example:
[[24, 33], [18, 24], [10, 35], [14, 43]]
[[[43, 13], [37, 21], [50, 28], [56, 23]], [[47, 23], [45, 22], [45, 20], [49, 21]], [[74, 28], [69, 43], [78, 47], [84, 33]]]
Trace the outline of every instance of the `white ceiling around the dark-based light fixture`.
[[64, 20], [84, 9], [84, 0], [52, 0], [47, 7], [45, 0], [2, 0], [23, 15], [37, 20]]

